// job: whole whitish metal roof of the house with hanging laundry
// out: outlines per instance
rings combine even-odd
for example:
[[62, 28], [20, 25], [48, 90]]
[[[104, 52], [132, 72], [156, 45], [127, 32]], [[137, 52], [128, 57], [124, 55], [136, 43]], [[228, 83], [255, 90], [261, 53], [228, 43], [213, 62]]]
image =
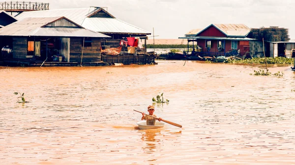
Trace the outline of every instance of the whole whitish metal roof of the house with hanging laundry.
[[[96, 9], [97, 10], [97, 9]], [[29, 11], [23, 12], [16, 16], [21, 20], [29, 17], [61, 17], [64, 16], [71, 21], [82, 25], [87, 29], [91, 29], [97, 32], [103, 33], [127, 33], [127, 34], [151, 34], [150, 32], [143, 30], [134, 25], [125, 23], [116, 18], [97, 18], [90, 17], [93, 13], [93, 9], [79, 8], [79, 9], [56, 9], [56, 10], [41, 10], [41, 11]]]

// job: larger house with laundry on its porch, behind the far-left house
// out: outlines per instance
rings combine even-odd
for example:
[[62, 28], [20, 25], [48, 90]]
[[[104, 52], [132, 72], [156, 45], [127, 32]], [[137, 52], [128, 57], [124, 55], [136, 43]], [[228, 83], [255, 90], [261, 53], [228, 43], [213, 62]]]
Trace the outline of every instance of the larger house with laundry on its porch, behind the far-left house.
[[[111, 13], [106, 11], [105, 9], [101, 7], [90, 7], [90, 8], [78, 8], [78, 9], [56, 9], [56, 10], [42, 10], [42, 11], [29, 11], [29, 12], [23, 12], [16, 16], [18, 20], [22, 20], [25, 18], [34, 18], [34, 17], [41, 17], [41, 18], [47, 18], [47, 17], [66, 17], [76, 24], [79, 24], [86, 29], [99, 32], [108, 36], [111, 36], [111, 38], [101, 38], [100, 45], [102, 49], [105, 48], [116, 48], [121, 46], [121, 40], [123, 40], [126, 37], [139, 37], [139, 40], [143, 42], [143, 44], [146, 45], [147, 35], [151, 34], [150, 32], [141, 29], [135, 25], [128, 24], [124, 21], [121, 21], [117, 19], [115, 16], [113, 16]], [[87, 41], [89, 42], [89, 41]], [[135, 55], [139, 55], [139, 52], [127, 52], [127, 47], [123, 47], [122, 50], [126, 50], [126, 53], [123, 53], [127, 59], [135, 59], [137, 57], [132, 57]], [[123, 51], [125, 52], [125, 51]], [[140, 59], [150, 59], [151, 63], [154, 63], [154, 57], [150, 56], [151, 54], [148, 54], [146, 51], [144, 51], [142, 56], [149, 56], [149, 57], [142, 57], [138, 60], [123, 60], [124, 57], [119, 56], [110, 56], [108, 55], [102, 55], [102, 60], [108, 63], [114, 63], [115, 61], [121, 62], [123, 61], [126, 64], [130, 63], [142, 63]], [[115, 59], [114, 59], [115, 58]], [[110, 61], [110, 59], [112, 59]], [[113, 60], [114, 59], [114, 60]], [[150, 63], [148, 62], [148, 63]]]

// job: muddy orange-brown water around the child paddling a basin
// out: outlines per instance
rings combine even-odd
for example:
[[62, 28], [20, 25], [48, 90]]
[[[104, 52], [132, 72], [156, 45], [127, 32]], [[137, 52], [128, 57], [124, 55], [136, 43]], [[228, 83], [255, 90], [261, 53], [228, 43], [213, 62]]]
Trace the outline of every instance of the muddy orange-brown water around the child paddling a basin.
[[[294, 165], [295, 73], [260, 66], [0, 68], [0, 165]], [[17, 103], [14, 92], [29, 103]], [[155, 114], [182, 125], [138, 130]]]

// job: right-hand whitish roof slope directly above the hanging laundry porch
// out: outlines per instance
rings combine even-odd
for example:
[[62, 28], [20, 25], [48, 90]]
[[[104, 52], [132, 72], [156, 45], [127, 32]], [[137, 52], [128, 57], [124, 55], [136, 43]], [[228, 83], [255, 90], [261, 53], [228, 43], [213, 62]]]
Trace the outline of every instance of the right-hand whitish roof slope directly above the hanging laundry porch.
[[86, 18], [82, 26], [101, 33], [150, 34], [146, 30], [116, 18]]

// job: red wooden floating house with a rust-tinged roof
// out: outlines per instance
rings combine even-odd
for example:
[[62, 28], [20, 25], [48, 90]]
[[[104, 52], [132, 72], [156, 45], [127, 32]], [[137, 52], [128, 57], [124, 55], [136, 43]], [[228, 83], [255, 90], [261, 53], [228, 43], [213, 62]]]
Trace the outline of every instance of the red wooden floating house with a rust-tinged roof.
[[255, 39], [248, 38], [250, 28], [244, 24], [210, 24], [204, 29], [193, 29], [185, 34], [187, 39], [197, 45], [197, 53], [201, 56], [239, 55], [250, 53], [250, 42]]

